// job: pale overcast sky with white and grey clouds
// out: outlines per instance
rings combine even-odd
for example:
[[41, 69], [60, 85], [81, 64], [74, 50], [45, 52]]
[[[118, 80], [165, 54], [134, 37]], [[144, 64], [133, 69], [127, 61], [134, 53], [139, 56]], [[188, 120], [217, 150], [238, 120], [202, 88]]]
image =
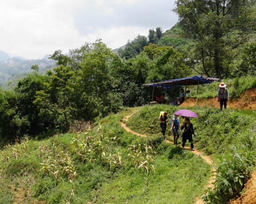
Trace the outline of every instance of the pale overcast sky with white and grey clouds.
[[77, 48], [101, 38], [115, 49], [168, 30], [178, 21], [175, 0], [1, 0], [0, 50], [27, 59]]

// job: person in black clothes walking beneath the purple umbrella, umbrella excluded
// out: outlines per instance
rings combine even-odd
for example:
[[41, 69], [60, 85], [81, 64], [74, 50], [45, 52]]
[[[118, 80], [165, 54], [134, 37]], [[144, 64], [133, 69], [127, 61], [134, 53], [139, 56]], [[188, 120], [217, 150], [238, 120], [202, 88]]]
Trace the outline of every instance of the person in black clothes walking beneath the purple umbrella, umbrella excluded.
[[184, 149], [186, 141], [188, 140], [188, 142], [190, 142], [191, 150], [195, 151], [194, 143], [192, 139], [192, 134], [194, 134], [195, 136], [195, 133], [194, 133], [193, 124], [189, 121], [189, 118], [186, 118], [184, 125], [181, 126], [181, 130], [183, 129], [185, 130], [182, 134], [182, 149]]

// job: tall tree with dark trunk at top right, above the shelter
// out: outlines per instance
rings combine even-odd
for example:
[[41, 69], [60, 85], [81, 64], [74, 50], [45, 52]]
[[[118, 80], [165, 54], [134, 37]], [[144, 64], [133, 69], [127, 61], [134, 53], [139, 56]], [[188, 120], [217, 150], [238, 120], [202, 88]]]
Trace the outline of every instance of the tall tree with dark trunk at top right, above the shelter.
[[196, 41], [205, 71], [210, 60], [216, 77], [223, 77], [230, 50], [243, 44], [245, 31], [255, 25], [255, 0], [176, 0], [176, 5], [183, 36]]

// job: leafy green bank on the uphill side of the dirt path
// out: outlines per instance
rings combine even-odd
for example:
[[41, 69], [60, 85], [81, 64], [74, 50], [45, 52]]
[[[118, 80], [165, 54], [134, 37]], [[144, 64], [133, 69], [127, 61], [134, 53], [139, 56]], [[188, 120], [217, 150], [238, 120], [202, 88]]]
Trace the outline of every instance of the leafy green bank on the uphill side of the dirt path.
[[[212, 155], [217, 164], [217, 183], [215, 191], [211, 192], [212, 202], [225, 203], [238, 195], [255, 166], [256, 114], [231, 109], [219, 112], [215, 108], [196, 106], [188, 109], [199, 116], [191, 119], [197, 133], [195, 148]], [[159, 135], [157, 119], [160, 111], [168, 111], [171, 117], [176, 110], [177, 107], [170, 105], [145, 106], [127, 125], [142, 134]], [[172, 139], [170, 125], [167, 135]], [[242, 178], [241, 185], [238, 183], [239, 176]]]

